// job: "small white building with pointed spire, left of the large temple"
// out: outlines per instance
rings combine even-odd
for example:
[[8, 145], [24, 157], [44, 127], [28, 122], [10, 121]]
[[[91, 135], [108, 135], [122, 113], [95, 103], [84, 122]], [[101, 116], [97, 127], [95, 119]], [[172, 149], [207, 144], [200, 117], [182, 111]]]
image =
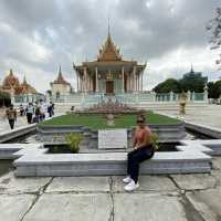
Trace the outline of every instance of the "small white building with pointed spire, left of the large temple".
[[62, 75], [61, 66], [60, 66], [59, 75], [57, 75], [56, 80], [51, 82], [50, 85], [51, 85], [52, 96], [56, 96], [57, 98], [61, 95], [70, 95], [72, 92], [71, 84], [69, 82], [66, 82]]

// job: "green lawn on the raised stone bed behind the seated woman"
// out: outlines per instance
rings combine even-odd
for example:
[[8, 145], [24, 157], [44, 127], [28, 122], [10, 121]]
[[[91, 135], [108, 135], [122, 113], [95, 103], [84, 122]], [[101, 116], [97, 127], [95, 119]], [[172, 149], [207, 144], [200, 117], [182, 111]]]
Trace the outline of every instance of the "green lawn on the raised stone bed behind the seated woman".
[[[43, 125], [83, 125], [92, 129], [104, 128], [129, 128], [136, 125], [137, 115], [118, 115], [115, 117], [114, 126], [108, 126], [104, 115], [72, 115], [55, 117], [53, 119], [43, 122]], [[147, 124], [177, 124], [180, 120], [155, 114], [152, 112], [146, 113]]]

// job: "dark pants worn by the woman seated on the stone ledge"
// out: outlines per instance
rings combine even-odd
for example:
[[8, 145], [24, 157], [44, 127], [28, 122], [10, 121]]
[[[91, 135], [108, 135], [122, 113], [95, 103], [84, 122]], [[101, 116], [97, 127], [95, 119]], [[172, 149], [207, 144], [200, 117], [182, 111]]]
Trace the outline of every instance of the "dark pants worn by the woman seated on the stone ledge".
[[152, 146], [134, 149], [127, 155], [127, 175], [137, 183], [139, 176], [139, 164], [154, 156]]

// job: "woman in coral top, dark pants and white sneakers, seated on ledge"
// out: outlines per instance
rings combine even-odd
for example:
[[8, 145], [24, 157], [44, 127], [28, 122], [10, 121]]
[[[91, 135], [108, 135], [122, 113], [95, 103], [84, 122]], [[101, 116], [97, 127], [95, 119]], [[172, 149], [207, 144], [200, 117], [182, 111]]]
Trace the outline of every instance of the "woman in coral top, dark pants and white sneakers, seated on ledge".
[[137, 117], [137, 128], [135, 131], [134, 150], [128, 152], [127, 156], [127, 177], [123, 179], [126, 191], [133, 191], [139, 187], [138, 175], [139, 164], [154, 156], [154, 147], [150, 144], [151, 131], [145, 124], [145, 116]]

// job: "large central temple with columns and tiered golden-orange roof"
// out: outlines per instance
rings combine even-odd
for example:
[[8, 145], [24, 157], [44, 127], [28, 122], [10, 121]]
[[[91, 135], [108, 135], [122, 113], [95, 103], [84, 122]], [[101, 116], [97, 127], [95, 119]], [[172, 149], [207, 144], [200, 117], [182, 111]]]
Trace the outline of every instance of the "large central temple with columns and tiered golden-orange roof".
[[143, 75], [146, 64], [126, 61], [119, 54], [108, 32], [97, 60], [74, 65], [77, 92], [122, 94], [143, 91]]

